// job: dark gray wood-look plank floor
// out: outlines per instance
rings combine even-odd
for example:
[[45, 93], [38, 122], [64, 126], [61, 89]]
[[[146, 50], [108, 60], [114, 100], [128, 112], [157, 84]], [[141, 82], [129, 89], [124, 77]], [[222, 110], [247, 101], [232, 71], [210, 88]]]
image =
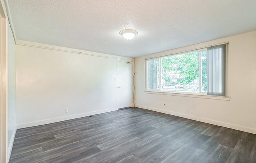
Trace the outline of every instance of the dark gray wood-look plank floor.
[[131, 108], [18, 129], [9, 163], [256, 163], [256, 135]]

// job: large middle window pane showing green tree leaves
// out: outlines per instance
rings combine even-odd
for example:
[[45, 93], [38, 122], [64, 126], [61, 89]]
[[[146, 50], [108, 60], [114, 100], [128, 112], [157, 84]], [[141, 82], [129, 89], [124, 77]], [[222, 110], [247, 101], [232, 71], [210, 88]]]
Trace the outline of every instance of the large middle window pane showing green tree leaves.
[[199, 92], [198, 51], [161, 58], [161, 90]]

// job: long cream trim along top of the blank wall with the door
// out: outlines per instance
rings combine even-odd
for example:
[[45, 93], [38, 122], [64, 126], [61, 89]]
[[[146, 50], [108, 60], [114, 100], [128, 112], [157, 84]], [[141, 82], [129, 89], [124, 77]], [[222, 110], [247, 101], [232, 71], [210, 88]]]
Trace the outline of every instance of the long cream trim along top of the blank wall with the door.
[[80, 50], [80, 49], [72, 49], [69, 47], [61, 47], [61, 46], [44, 44], [44, 43], [29, 42], [29, 41], [24, 41], [24, 40], [16, 40], [16, 45], [37, 47], [37, 48], [49, 49], [49, 50], [55, 50], [55, 51], [64, 51], [64, 52], [69, 52], [69, 53], [85, 54], [85, 55], [98, 56], [98, 57], [104, 57], [104, 58], [114, 58], [114, 59], [123, 60], [123, 61], [127, 61], [127, 62], [133, 61], [133, 58], [130, 58], [130, 57], [97, 53], [97, 52], [93, 52], [93, 51], [84, 51], [84, 50]]

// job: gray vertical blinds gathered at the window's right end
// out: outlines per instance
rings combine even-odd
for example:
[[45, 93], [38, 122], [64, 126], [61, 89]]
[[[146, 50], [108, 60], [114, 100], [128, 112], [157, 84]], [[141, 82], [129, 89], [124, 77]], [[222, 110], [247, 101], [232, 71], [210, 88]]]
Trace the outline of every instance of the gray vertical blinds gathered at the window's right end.
[[207, 94], [225, 96], [226, 44], [207, 48]]

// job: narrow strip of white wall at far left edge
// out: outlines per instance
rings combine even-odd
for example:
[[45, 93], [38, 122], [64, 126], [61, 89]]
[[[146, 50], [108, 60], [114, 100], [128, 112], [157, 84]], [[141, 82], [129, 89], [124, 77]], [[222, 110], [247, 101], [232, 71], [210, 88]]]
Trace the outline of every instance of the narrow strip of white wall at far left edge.
[[7, 52], [7, 115], [8, 115], [8, 158], [11, 154], [16, 133], [16, 74], [15, 74], [15, 42], [11, 27], [8, 25], [8, 52]]

